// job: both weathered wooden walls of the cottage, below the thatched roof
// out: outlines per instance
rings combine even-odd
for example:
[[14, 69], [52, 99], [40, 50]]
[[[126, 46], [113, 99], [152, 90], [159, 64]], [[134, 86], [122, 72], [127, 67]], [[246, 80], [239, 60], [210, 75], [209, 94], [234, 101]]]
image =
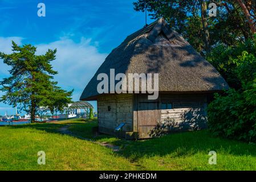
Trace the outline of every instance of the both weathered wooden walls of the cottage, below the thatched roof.
[[[171, 103], [173, 109], [161, 109]], [[110, 110], [108, 110], [110, 106]], [[148, 100], [146, 94], [109, 94], [97, 98], [99, 131], [115, 134], [125, 123], [123, 135], [151, 138], [167, 131], [199, 130], [206, 127], [206, 94], [160, 94]], [[135, 136], [135, 135], [133, 135]]]

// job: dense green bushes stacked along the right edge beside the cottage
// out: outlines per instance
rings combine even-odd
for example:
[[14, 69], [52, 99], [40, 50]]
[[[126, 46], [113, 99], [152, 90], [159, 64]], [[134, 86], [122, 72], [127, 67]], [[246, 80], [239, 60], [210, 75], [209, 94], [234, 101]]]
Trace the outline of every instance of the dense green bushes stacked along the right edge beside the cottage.
[[[217, 57], [213, 59], [212, 63], [218, 65], [217, 68], [227, 77], [227, 81], [233, 85], [237, 81], [239, 85], [235, 85], [236, 90], [230, 89], [224, 95], [216, 94], [215, 100], [208, 106], [208, 119], [210, 130], [214, 134], [255, 143], [256, 52], [255, 44], [251, 43], [251, 47], [245, 44], [224, 49], [218, 56], [220, 60], [217, 61]], [[225, 62], [227, 52], [230, 55]]]

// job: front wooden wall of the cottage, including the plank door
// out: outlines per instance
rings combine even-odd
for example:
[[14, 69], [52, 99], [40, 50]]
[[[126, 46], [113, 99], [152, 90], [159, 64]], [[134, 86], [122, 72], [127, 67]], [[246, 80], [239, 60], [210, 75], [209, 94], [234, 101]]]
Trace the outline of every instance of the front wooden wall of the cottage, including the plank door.
[[[157, 137], [168, 131], [200, 130], [206, 127], [206, 94], [160, 94], [159, 99], [155, 101], [158, 106], [149, 111], [148, 106], [140, 108], [141, 103], [152, 103], [147, 100], [147, 96], [138, 94], [135, 98], [137, 103], [133, 105], [138, 107], [133, 111], [133, 129], [136, 129], [137, 125], [137, 130], [134, 131], [139, 132], [139, 138]], [[173, 109], [162, 110], [162, 103], [171, 103]], [[148, 124], [144, 123], [145, 119]], [[151, 123], [155, 123], [155, 127], [147, 127]]]

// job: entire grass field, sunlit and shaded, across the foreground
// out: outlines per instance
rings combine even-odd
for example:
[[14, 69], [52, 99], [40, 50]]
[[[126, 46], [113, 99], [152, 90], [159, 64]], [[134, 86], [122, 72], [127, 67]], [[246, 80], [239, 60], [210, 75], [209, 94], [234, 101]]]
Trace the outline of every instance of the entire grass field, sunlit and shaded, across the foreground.
[[[112, 143], [121, 150], [60, 134], [63, 126], [76, 136]], [[215, 138], [208, 130], [131, 141], [94, 137], [95, 126], [96, 121], [79, 119], [2, 126], [0, 170], [256, 170], [255, 145]], [[38, 151], [46, 152], [46, 165], [38, 165]], [[217, 152], [216, 165], [208, 163], [209, 151]]]

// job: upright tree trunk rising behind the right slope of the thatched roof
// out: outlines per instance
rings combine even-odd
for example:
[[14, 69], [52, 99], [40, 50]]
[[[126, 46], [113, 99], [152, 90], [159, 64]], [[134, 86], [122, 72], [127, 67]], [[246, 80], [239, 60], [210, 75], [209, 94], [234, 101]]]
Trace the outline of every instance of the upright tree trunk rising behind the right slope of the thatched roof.
[[210, 52], [210, 35], [208, 30], [208, 22], [207, 22], [207, 5], [205, 0], [201, 1], [201, 18], [202, 18], [202, 28], [204, 31], [204, 43], [205, 43], [205, 51]]

